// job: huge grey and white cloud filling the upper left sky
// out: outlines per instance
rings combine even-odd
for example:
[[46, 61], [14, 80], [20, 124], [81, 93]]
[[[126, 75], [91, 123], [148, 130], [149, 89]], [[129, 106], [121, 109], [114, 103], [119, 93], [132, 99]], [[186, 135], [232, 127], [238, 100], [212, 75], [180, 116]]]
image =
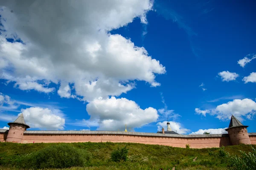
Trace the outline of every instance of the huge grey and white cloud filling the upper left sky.
[[[0, 35], [1, 78], [21, 90], [44, 93], [55, 91], [49, 84], [61, 82], [61, 97], [81, 96], [87, 102], [126, 93], [135, 87], [134, 80], [159, 86], [155, 76], [164, 74], [165, 67], [145, 48], [110, 34], [135, 17], [146, 24], [152, 5], [151, 0], [6, 1], [0, 11], [5, 29]], [[73, 85], [75, 94], [65, 83]]]

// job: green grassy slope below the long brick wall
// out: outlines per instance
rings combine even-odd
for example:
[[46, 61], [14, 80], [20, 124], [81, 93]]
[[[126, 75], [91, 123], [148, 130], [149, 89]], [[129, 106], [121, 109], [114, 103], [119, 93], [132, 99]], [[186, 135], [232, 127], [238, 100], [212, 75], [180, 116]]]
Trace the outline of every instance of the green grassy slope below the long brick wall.
[[[80, 157], [86, 157], [84, 163], [80, 167], [68, 168], [68, 170], [226, 170], [227, 162], [225, 157], [221, 156], [220, 148], [207, 149], [189, 149], [178, 147], [167, 147], [149, 144], [126, 143], [128, 151], [128, 161], [114, 162], [111, 160], [111, 152], [118, 147], [124, 147], [125, 143], [35, 143], [35, 144], [15, 144], [0, 143], [0, 169], [12, 170], [20, 169], [20, 166], [29, 167], [29, 163], [34, 157], [44, 159], [40, 150], [45, 150], [47, 157], [50, 154], [56, 154], [56, 146], [70, 147], [69, 152], [86, 153]], [[254, 145], [253, 147], [256, 147]], [[51, 149], [53, 148], [53, 149]], [[63, 149], [65, 150], [65, 149]], [[239, 150], [251, 152], [249, 145], [228, 146], [224, 148], [231, 155], [239, 155]], [[66, 152], [66, 150], [64, 151]], [[65, 154], [65, 153], [64, 153]], [[54, 158], [54, 157], [53, 157]], [[195, 159], [196, 158], [196, 159]], [[58, 158], [58, 159], [61, 159]], [[67, 156], [67, 159], [79, 159]], [[194, 160], [194, 161], [193, 161]], [[38, 161], [38, 160], [37, 160]], [[35, 161], [33, 164], [36, 164]], [[40, 161], [40, 160], [39, 160]], [[67, 161], [67, 160], [64, 160]], [[79, 160], [78, 160], [79, 161]]]

